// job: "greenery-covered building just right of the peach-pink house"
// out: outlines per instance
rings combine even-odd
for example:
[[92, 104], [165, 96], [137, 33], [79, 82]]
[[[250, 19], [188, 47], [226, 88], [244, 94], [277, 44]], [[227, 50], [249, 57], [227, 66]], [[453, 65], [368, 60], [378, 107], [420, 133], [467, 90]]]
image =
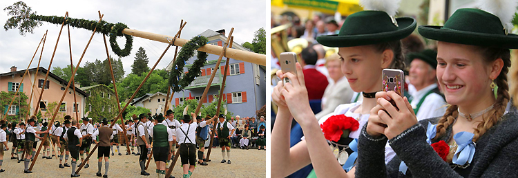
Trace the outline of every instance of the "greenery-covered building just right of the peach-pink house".
[[[88, 113], [88, 118], [93, 120], [102, 120], [102, 118], [113, 119], [119, 113], [119, 107], [117, 106], [117, 96], [115, 91], [110, 87], [99, 84], [90, 87], [81, 87], [81, 90], [88, 93], [88, 98], [85, 101], [84, 112]], [[124, 106], [122, 106], [124, 107]]]

